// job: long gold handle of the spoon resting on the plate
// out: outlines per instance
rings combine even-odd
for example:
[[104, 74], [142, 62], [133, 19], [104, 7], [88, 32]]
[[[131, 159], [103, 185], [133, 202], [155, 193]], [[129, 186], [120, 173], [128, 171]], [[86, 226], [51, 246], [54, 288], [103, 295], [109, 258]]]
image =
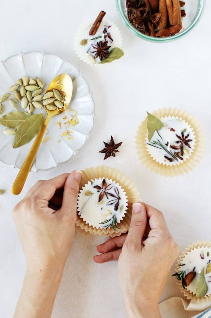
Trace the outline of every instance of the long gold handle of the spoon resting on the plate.
[[45, 134], [45, 131], [46, 131], [46, 128], [48, 126], [50, 119], [51, 119], [51, 116], [47, 115], [38, 135], [36, 136], [35, 141], [33, 142], [33, 145], [31, 146], [31, 149], [29, 150], [29, 153], [28, 153], [25, 161], [23, 162], [22, 167], [21, 167], [21, 169], [20, 169], [20, 171], [19, 171], [19, 173], [18, 173], [18, 175], [17, 175], [17, 177], [12, 185], [11, 192], [14, 195], [18, 195], [22, 191], [22, 188], [24, 186], [24, 183], [26, 182], [26, 178], [27, 178], [29, 171], [32, 167], [32, 164], [35, 160], [37, 151], [40, 147], [43, 135]]

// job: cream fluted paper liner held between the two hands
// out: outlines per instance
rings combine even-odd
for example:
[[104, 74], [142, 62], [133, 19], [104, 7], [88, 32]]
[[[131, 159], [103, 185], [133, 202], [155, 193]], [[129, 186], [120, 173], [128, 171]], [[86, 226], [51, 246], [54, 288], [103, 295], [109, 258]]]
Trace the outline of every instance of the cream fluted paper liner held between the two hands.
[[81, 190], [82, 187], [84, 187], [84, 185], [88, 183], [88, 181], [91, 181], [95, 178], [98, 179], [103, 177], [116, 181], [116, 183], [119, 183], [119, 185], [121, 185], [121, 187], [124, 189], [124, 192], [126, 193], [128, 199], [127, 211], [125, 213], [125, 217], [121, 220], [120, 223], [118, 223], [118, 226], [121, 229], [116, 228], [116, 231], [113, 230], [112, 226], [110, 226], [110, 228], [108, 229], [97, 229], [96, 227], [90, 226], [86, 224], [86, 222], [83, 221], [82, 218], [80, 218], [80, 215], [77, 214], [76, 230], [79, 231], [82, 235], [88, 237], [97, 234], [105, 235], [107, 237], [114, 237], [121, 235], [122, 233], [126, 233], [130, 227], [132, 204], [135, 202], [141, 202], [139, 192], [132, 181], [127, 176], [122, 174], [119, 170], [112, 167], [98, 166], [82, 170], [79, 190]]

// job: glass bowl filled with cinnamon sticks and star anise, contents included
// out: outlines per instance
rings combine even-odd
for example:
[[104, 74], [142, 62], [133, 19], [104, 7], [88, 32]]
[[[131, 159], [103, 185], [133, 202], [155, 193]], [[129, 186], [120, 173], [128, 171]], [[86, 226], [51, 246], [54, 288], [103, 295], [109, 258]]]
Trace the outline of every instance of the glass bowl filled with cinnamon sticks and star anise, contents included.
[[116, 0], [129, 31], [148, 41], [181, 38], [199, 22], [206, 0]]

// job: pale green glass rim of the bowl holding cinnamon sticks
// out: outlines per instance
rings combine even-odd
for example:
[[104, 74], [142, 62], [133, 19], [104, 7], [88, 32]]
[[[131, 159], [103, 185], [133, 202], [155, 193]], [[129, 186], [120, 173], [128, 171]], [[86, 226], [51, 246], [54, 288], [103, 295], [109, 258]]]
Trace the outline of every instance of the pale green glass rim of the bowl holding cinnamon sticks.
[[182, 31], [179, 32], [175, 35], [172, 35], [171, 37], [166, 37], [166, 38], [157, 38], [157, 37], [150, 37], [148, 35], [145, 35], [144, 33], [141, 33], [140, 31], [138, 31], [127, 19], [127, 17], [125, 16], [125, 12], [123, 9], [123, 5], [122, 5], [122, 0], [116, 0], [116, 6], [117, 6], [117, 10], [118, 13], [121, 17], [121, 20], [123, 21], [123, 23], [125, 24], [125, 26], [129, 29], [129, 31], [131, 31], [134, 35], [136, 35], [139, 38], [143, 38], [144, 40], [150, 41], [150, 42], [168, 42], [168, 41], [172, 41], [175, 40], [177, 38], [181, 38], [183, 37], [185, 34], [187, 34], [189, 31], [191, 31], [195, 25], [199, 22], [202, 13], [204, 11], [205, 8], [205, 3], [206, 0], [199, 0], [198, 2], [198, 8], [197, 8], [197, 12], [195, 14], [194, 20], [192, 22], [192, 24], [189, 25], [189, 27]]

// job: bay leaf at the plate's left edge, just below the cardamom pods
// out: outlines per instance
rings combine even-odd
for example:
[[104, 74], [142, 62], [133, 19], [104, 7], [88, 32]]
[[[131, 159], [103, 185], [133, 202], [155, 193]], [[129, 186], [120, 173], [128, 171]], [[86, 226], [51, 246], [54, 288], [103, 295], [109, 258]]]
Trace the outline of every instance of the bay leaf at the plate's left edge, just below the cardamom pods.
[[30, 115], [25, 112], [11, 112], [0, 118], [0, 124], [5, 127], [16, 129]]

